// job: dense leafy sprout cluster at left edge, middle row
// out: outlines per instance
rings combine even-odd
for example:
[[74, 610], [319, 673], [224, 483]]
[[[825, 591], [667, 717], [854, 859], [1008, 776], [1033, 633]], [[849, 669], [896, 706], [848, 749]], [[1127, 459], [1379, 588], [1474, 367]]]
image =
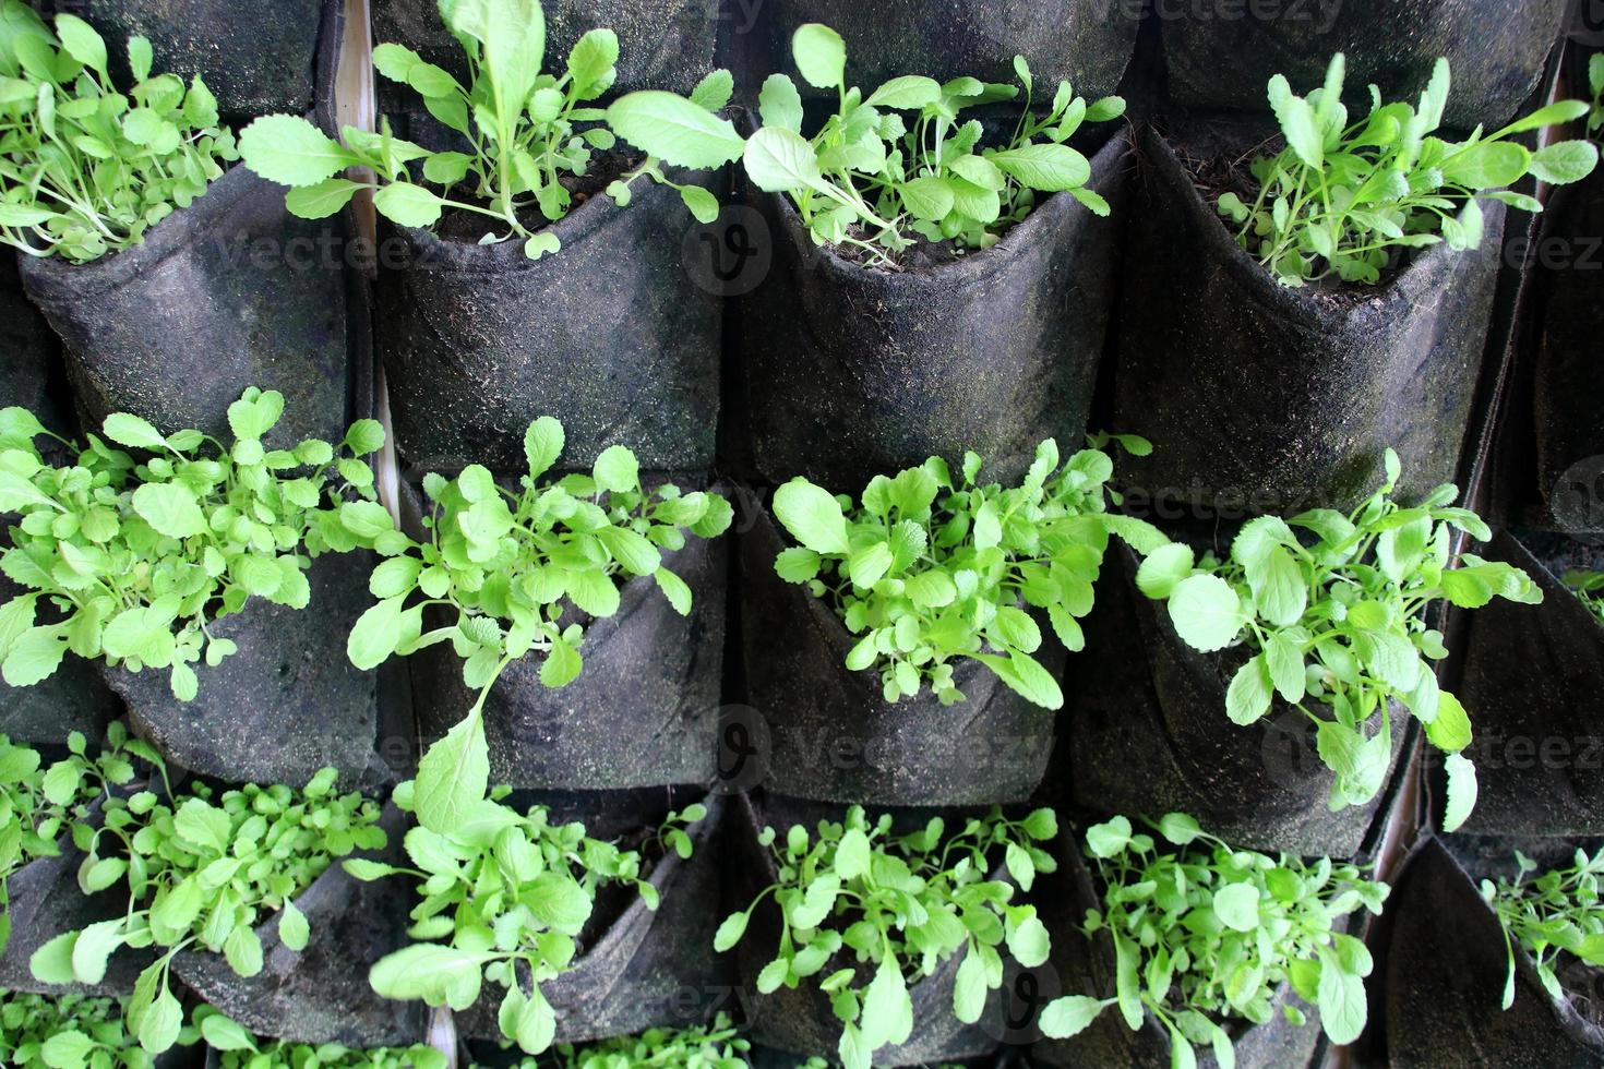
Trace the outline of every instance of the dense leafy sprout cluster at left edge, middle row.
[[233, 446], [119, 412], [88, 447], [58, 438], [75, 454], [63, 465], [42, 458], [35, 439], [56, 436], [32, 413], [0, 410], [0, 513], [21, 516], [0, 571], [26, 588], [0, 604], [5, 681], [40, 683], [71, 651], [168, 670], [173, 696], [192, 700], [194, 665], [236, 652], [209, 623], [250, 598], [305, 607], [310, 558], [371, 547], [351, 521], [383, 508], [358, 457], [383, 430], [353, 425], [338, 460], [321, 441], [269, 450], [261, 439], [282, 410], [277, 391], [247, 389], [228, 409]]

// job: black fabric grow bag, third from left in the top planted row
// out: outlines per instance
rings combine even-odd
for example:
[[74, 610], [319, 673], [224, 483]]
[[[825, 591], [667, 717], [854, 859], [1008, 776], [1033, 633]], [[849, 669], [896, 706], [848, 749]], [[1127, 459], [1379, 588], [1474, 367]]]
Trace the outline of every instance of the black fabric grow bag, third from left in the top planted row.
[[1113, 218], [1057, 194], [996, 247], [929, 269], [842, 260], [789, 199], [760, 196], [773, 268], [741, 306], [738, 462], [762, 482], [802, 474], [857, 494], [966, 449], [986, 479], [1017, 478], [1044, 438], [1073, 452], [1113, 305], [1129, 147], [1116, 135], [1092, 159], [1088, 188]]

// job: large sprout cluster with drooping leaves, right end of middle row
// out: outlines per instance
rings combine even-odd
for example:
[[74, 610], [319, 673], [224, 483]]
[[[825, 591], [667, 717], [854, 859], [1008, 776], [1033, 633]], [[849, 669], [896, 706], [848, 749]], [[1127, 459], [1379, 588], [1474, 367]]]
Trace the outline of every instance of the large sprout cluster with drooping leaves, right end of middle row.
[[1274, 699], [1314, 723], [1320, 760], [1336, 773], [1331, 806], [1357, 806], [1381, 790], [1392, 760], [1392, 705], [1402, 704], [1444, 752], [1445, 830], [1476, 805], [1476, 766], [1461, 753], [1471, 721], [1442, 691], [1429, 660], [1447, 656], [1426, 609], [1447, 599], [1479, 609], [1493, 598], [1538, 604], [1543, 591], [1517, 567], [1463, 555], [1455, 530], [1492, 535], [1476, 513], [1452, 508], [1452, 486], [1412, 508], [1391, 500], [1400, 465], [1386, 452], [1386, 482], [1344, 516], [1315, 508], [1243, 524], [1224, 561], [1192, 547], [1155, 550], [1137, 587], [1168, 601], [1176, 633], [1200, 652], [1240, 649], [1245, 664], [1225, 691], [1225, 715], [1248, 726]]

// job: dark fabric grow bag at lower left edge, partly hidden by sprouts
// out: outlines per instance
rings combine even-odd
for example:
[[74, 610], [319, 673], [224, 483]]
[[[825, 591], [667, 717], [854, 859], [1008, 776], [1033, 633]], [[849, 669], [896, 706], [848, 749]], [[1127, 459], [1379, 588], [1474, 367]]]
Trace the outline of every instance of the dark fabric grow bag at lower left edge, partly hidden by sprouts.
[[[99, 805], [90, 819], [99, 821]], [[37, 857], [13, 872], [6, 881], [11, 894], [11, 941], [5, 954], [0, 954], [0, 989], [42, 995], [130, 995], [140, 971], [156, 960], [151, 949], [120, 947], [107, 960], [106, 978], [98, 984], [43, 984], [34, 979], [27, 966], [34, 952], [56, 936], [128, 912], [128, 896], [119, 889], [122, 885], [83, 894], [79, 888], [83, 854], [72, 845], [71, 835], [63, 835], [59, 846], [58, 856]]]

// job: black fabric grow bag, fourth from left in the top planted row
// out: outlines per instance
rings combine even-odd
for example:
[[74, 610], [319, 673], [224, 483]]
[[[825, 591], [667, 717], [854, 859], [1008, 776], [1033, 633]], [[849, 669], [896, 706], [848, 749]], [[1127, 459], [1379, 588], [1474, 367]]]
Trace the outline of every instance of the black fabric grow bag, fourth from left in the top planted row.
[[[1181, 143], [1208, 159], [1243, 131]], [[1503, 205], [1480, 250], [1421, 250], [1376, 287], [1286, 288], [1237, 247], [1169, 141], [1145, 130], [1110, 426], [1153, 455], [1148, 495], [1254, 513], [1341, 508], [1404, 462], [1402, 498], [1452, 482], [1482, 369]]]

